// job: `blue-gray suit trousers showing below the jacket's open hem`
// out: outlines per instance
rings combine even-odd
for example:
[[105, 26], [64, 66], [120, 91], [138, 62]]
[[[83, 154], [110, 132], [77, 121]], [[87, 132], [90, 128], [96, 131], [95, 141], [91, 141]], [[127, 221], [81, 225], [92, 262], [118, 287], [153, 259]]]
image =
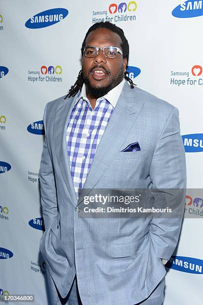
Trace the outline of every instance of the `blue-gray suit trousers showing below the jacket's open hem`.
[[[82, 305], [78, 286], [77, 286], [77, 277], [75, 276], [71, 289], [65, 299], [62, 299], [60, 294], [58, 293], [55, 284], [49, 275], [47, 274], [48, 288], [49, 288], [49, 297], [50, 297], [50, 305]], [[159, 285], [155, 288], [155, 290], [151, 293], [151, 295], [144, 301], [135, 304], [135, 305], [162, 305], [164, 302], [164, 288], [165, 288], [165, 277], [159, 283]], [[96, 304], [92, 304], [96, 305]], [[129, 304], [133, 305], [133, 304]]]

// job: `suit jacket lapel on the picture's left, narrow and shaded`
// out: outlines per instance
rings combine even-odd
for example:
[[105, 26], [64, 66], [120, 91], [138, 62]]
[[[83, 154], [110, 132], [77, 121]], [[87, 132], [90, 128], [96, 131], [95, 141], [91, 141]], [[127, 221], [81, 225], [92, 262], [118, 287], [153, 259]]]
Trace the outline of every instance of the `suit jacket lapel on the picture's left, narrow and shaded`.
[[73, 180], [70, 172], [70, 165], [69, 165], [67, 146], [66, 146], [66, 130], [76, 98], [77, 95], [74, 98], [67, 98], [58, 105], [55, 113], [54, 132], [53, 132], [56, 158], [64, 182], [66, 184], [66, 187], [69, 191], [70, 197], [74, 205], [77, 204], [77, 197], [75, 194]]

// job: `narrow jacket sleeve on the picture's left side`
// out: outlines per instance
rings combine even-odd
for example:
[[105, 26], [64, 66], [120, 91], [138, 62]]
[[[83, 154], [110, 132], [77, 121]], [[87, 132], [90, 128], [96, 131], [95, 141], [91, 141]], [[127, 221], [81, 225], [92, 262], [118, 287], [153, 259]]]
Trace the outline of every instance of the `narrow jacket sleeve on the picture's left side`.
[[51, 155], [47, 145], [46, 109], [47, 105], [44, 110], [43, 118], [45, 139], [39, 170], [41, 207], [45, 230], [58, 216], [55, 176]]

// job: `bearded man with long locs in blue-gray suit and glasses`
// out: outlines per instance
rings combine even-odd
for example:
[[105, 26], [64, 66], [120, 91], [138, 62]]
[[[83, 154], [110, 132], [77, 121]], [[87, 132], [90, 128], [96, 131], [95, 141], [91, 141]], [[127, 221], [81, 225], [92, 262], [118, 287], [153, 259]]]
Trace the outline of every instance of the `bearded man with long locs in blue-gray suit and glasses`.
[[94, 189], [185, 188], [178, 110], [134, 87], [121, 28], [92, 25], [81, 51], [77, 81], [44, 112], [40, 250], [51, 304], [161, 305], [181, 218], [79, 212]]

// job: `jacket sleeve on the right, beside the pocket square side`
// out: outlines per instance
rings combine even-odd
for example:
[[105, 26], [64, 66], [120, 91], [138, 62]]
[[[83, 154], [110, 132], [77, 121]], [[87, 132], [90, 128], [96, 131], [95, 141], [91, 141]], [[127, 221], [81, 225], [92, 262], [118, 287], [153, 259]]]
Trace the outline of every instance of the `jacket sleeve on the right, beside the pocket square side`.
[[[185, 149], [177, 108], [173, 108], [157, 143], [150, 166], [150, 178], [155, 189], [155, 205], [159, 201], [160, 207], [160, 198], [174, 198], [177, 209], [177, 217], [153, 218], [150, 223], [150, 236], [156, 255], [169, 260], [178, 243], [186, 193]], [[168, 204], [162, 203], [164, 207]]]

